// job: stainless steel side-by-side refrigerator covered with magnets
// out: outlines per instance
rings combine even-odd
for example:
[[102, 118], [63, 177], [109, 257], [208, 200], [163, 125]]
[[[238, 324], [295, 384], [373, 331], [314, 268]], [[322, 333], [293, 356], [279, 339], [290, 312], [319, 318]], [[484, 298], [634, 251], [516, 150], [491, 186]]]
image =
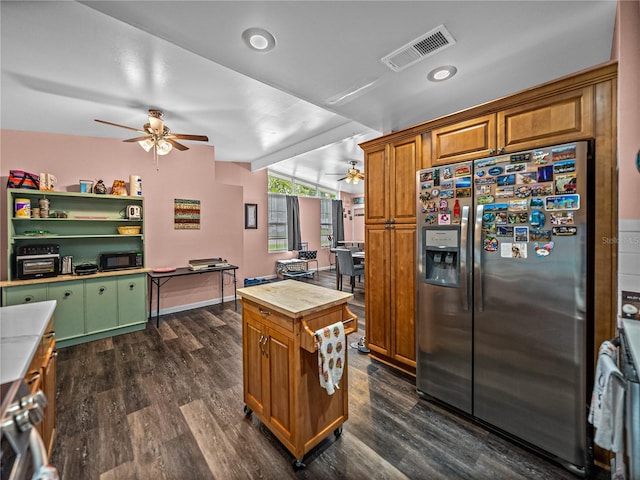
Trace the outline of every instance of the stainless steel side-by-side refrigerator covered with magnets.
[[417, 388], [587, 466], [588, 142], [417, 174]]

